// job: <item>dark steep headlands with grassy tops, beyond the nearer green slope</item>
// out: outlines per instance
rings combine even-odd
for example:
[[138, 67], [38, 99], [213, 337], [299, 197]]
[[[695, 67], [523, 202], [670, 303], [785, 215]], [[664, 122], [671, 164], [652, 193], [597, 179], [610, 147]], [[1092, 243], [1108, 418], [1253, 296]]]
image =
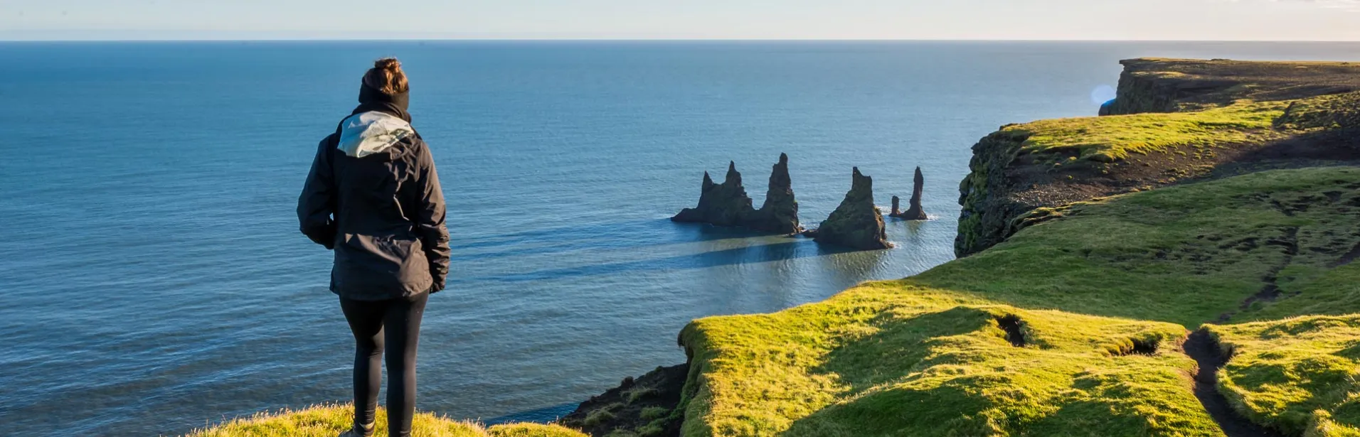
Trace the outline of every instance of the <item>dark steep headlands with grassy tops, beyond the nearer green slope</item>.
[[1115, 115], [1006, 125], [972, 147], [957, 256], [1072, 202], [1360, 160], [1360, 62], [1122, 64]]

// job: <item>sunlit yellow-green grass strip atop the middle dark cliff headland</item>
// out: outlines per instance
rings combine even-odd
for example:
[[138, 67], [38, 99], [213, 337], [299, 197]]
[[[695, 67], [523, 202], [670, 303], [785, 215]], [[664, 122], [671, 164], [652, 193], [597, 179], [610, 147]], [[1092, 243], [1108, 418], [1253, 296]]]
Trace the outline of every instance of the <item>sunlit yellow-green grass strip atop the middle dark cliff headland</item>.
[[1208, 148], [1278, 138], [1282, 134], [1273, 129], [1274, 121], [1287, 107], [1284, 102], [1239, 102], [1197, 113], [1043, 119], [1006, 126], [1002, 132], [1030, 136], [1023, 152], [1110, 163], [1132, 153], [1178, 147]]

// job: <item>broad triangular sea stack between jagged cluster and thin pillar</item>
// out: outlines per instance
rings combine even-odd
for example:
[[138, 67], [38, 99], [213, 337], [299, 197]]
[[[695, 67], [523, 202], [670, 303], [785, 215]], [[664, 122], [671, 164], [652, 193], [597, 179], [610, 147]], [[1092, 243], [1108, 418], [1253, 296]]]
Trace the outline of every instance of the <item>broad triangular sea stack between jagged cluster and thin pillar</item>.
[[851, 174], [850, 193], [846, 193], [846, 200], [813, 235], [817, 243], [857, 250], [892, 247], [883, 229], [883, 212], [873, 205], [873, 179], [861, 174], [860, 167], [855, 167]]

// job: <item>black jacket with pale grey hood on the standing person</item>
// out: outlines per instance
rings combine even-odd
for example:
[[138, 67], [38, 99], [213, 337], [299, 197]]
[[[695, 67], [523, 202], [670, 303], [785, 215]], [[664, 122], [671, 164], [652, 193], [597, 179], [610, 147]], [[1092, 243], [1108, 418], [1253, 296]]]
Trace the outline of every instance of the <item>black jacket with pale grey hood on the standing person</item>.
[[317, 147], [298, 221], [302, 233], [335, 250], [330, 290], [341, 297], [385, 300], [445, 286], [443, 191], [408, 119], [360, 107]]

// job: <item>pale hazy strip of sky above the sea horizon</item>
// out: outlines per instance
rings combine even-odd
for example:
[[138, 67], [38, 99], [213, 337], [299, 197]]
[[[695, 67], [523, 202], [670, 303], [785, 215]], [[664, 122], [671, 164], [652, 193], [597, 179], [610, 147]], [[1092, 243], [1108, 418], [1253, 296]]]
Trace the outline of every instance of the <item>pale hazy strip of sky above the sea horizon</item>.
[[1360, 0], [0, 0], [0, 39], [1360, 41]]

